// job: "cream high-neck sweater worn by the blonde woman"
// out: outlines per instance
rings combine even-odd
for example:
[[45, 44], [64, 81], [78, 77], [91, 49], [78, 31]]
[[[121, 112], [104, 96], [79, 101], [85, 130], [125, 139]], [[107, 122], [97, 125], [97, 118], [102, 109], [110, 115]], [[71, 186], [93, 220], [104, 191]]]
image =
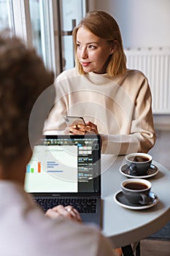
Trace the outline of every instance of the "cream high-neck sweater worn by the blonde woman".
[[109, 78], [66, 70], [55, 80], [55, 105], [45, 121], [45, 134], [62, 133], [63, 116], [82, 116], [98, 126], [102, 153], [147, 152], [155, 143], [152, 97], [147, 78], [138, 70]]

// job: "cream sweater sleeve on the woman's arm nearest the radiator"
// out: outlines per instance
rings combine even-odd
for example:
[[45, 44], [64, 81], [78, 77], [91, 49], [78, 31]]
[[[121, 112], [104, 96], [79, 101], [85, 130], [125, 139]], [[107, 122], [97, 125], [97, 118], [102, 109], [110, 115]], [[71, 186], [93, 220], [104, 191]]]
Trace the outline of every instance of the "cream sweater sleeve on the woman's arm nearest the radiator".
[[[129, 92], [133, 97], [133, 91]], [[134, 99], [134, 111], [129, 134], [101, 135], [102, 153], [130, 154], [147, 153], [155, 144], [152, 118], [152, 95], [147, 78], [144, 78]]]

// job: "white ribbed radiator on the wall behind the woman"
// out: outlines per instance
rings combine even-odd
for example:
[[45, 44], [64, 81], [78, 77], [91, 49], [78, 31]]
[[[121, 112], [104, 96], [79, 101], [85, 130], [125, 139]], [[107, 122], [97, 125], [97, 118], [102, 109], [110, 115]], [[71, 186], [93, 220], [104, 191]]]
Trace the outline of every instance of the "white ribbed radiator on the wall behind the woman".
[[126, 49], [127, 67], [147, 76], [155, 114], [170, 114], [170, 48]]

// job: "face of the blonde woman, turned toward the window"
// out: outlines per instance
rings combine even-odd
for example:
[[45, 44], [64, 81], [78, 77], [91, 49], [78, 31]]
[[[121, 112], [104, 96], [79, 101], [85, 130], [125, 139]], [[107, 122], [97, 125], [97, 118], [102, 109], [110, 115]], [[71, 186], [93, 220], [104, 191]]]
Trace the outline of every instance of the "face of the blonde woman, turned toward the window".
[[97, 37], [85, 26], [78, 29], [77, 58], [84, 72], [106, 73], [107, 60], [114, 51], [113, 42]]

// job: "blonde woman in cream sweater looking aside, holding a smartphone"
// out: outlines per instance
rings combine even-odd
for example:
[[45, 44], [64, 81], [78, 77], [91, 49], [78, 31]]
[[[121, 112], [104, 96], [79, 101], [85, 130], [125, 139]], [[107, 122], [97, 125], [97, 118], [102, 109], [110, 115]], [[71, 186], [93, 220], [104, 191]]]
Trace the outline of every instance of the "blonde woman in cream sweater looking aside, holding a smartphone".
[[[150, 86], [142, 72], [127, 69], [116, 20], [107, 12], [88, 12], [73, 40], [75, 67], [55, 81], [45, 134], [100, 134], [104, 154], [149, 151], [155, 143]], [[68, 129], [63, 116], [82, 116], [86, 125]]]

